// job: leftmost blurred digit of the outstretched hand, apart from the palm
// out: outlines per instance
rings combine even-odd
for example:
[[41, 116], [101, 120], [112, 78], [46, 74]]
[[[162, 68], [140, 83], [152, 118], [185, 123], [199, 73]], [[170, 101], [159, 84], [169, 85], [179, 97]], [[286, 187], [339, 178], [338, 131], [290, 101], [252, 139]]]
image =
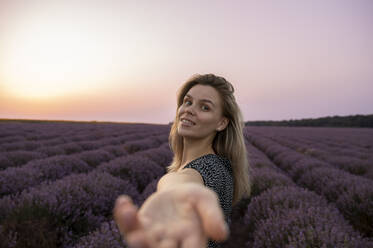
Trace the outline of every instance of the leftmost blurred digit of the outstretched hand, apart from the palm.
[[121, 195], [117, 198], [113, 215], [122, 235], [140, 228], [137, 212], [138, 208], [133, 204], [129, 196]]

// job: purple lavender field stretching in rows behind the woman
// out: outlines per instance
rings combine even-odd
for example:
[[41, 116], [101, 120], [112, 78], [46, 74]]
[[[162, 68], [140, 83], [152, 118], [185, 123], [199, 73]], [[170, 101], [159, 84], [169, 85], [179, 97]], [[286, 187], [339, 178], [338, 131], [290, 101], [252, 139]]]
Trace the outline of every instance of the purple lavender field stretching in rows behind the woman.
[[[154, 192], [169, 125], [0, 122], [0, 248], [126, 247], [116, 197]], [[373, 247], [373, 129], [246, 127], [252, 195], [223, 247]]]

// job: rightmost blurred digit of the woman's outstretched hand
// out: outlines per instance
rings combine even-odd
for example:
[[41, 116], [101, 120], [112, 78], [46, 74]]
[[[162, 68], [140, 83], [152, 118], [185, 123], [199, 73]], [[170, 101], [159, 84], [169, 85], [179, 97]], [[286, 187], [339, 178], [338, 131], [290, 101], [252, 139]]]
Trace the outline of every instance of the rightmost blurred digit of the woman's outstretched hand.
[[201, 218], [202, 227], [208, 237], [224, 241], [229, 236], [229, 228], [224, 220], [223, 210], [217, 194], [205, 188], [194, 195], [194, 206]]

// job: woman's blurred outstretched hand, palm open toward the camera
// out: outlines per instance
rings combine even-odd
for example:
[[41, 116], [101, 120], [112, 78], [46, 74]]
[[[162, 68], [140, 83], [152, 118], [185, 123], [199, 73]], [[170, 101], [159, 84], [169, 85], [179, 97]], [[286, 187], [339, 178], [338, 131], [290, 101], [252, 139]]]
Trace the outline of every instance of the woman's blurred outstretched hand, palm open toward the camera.
[[205, 248], [207, 238], [229, 235], [217, 194], [197, 183], [183, 183], [153, 193], [141, 206], [120, 196], [114, 219], [130, 247]]

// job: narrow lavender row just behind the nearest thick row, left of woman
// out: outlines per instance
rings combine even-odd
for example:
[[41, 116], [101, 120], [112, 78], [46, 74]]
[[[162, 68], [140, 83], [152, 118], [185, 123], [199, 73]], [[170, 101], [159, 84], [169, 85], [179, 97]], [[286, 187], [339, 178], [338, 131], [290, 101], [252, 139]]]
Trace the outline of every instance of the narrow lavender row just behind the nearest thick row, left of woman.
[[[138, 136], [142, 137], [142, 136]], [[105, 146], [72, 155], [56, 155], [45, 159], [35, 159], [24, 166], [10, 167], [0, 171], [0, 197], [14, 194], [36, 186], [43, 181], [55, 181], [73, 173], [89, 172], [99, 164], [118, 156], [146, 150], [167, 142], [167, 134], [150, 136], [129, 141], [121, 146]]]

